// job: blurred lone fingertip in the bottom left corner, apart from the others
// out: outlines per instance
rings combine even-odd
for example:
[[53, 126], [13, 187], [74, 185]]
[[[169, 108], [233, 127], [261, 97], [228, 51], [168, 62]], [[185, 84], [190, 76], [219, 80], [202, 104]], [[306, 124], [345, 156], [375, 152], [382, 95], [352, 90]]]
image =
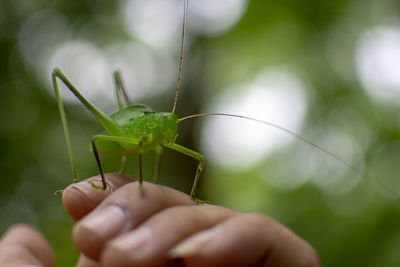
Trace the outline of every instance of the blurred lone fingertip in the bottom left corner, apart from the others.
[[0, 266], [53, 266], [54, 256], [45, 238], [28, 225], [11, 227], [0, 241]]

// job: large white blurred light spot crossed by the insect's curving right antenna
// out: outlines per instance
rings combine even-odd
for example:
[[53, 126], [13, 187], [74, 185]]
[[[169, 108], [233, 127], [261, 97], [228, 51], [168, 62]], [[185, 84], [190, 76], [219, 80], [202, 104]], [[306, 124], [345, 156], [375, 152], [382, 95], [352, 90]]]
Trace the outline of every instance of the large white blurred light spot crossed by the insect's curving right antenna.
[[[306, 111], [304, 91], [302, 81], [290, 72], [264, 70], [248, 84], [220, 95], [207, 111], [249, 116], [296, 132]], [[254, 166], [292, 139], [285, 132], [254, 121], [209, 117], [204, 122], [201, 146], [208, 161], [243, 169]]]

